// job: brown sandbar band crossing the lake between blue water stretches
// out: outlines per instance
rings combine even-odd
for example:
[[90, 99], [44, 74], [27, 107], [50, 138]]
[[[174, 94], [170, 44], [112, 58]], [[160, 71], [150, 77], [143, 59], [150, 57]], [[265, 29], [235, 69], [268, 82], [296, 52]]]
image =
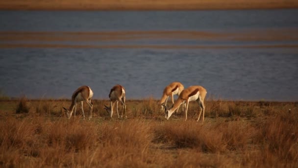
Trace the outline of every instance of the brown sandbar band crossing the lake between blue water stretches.
[[[151, 40], [161, 41], [162, 43], [155, 44]], [[173, 43], [173, 40], [176, 43]], [[178, 40], [181, 42], [177, 43]], [[185, 40], [191, 40], [193, 43], [184, 44], [183, 41]], [[297, 28], [254, 29], [238, 32], [187, 30], [96, 32], [0, 31], [0, 48], [298, 48], [297, 40]], [[139, 44], [134, 41], [143, 41], [143, 43]], [[204, 43], [199, 43], [201, 41]], [[217, 41], [217, 43], [214, 41]], [[218, 43], [218, 41], [222, 43]], [[224, 43], [226, 41], [230, 43]], [[284, 41], [291, 43], [284, 43]]]

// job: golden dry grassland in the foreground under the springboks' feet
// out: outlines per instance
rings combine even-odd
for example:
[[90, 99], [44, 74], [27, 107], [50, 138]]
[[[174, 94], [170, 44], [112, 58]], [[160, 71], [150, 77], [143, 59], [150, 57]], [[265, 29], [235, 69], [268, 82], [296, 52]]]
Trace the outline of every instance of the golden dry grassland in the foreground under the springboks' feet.
[[[1, 167], [298, 167], [298, 103], [208, 99], [164, 119], [157, 100], [127, 100], [111, 119], [66, 119], [70, 100], [0, 100]], [[169, 103], [170, 105], [171, 103]], [[89, 109], [85, 106], [85, 115]], [[291, 112], [289, 112], [291, 109]]]

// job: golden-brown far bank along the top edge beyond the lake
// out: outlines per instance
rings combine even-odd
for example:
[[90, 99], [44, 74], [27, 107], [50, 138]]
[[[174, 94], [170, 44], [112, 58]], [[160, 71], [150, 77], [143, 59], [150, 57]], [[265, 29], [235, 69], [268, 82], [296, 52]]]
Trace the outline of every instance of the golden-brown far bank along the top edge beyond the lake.
[[297, 0], [1, 0], [10, 10], [202, 10], [297, 8]]

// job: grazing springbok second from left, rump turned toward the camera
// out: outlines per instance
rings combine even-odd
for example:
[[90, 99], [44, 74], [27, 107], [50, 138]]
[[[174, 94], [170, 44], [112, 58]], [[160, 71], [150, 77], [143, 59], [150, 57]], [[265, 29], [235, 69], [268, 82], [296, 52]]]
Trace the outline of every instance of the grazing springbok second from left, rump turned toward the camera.
[[125, 89], [122, 85], [117, 84], [114, 87], [111, 88], [109, 98], [111, 100], [111, 106], [107, 107], [104, 105], [104, 109], [109, 113], [110, 117], [112, 118], [113, 116], [113, 108], [114, 108], [114, 103], [116, 102], [116, 110], [119, 118], [119, 112], [118, 112], [118, 101], [122, 103], [122, 114], [121, 118], [123, 117], [123, 111], [125, 111], [125, 118], [126, 116], [126, 105], [125, 105]]

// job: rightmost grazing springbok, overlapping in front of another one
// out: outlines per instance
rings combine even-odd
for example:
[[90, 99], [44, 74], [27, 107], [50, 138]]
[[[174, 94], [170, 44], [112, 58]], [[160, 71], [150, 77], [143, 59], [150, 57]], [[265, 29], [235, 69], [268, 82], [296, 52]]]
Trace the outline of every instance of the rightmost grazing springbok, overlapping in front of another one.
[[[205, 114], [205, 105], [204, 105], [204, 99], [207, 94], [207, 91], [204, 87], [202, 86], [190, 86], [186, 89], [184, 89], [178, 99], [175, 101], [174, 105], [168, 109], [165, 105], [162, 105], [165, 108], [165, 118], [169, 119], [170, 116], [173, 114], [173, 112], [179, 108], [179, 106], [183, 103], [186, 102], [186, 109], [185, 109], [185, 121], [187, 119], [187, 109], [188, 109], [188, 104], [191, 101], [197, 101], [200, 107], [199, 111], [199, 118], [201, 115], [201, 112], [203, 111], [203, 119], [202, 122], [204, 122], [204, 114]], [[199, 121], [199, 118], [197, 121]]]

